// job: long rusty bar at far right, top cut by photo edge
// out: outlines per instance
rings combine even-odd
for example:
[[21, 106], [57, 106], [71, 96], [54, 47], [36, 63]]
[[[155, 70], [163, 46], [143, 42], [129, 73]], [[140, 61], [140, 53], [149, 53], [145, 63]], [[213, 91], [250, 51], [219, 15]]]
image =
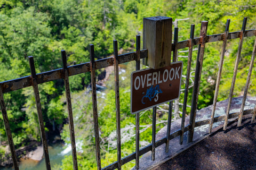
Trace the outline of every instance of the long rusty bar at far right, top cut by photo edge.
[[238, 122], [237, 122], [238, 127], [241, 126], [241, 123], [242, 123], [244, 105], [245, 105], [248, 89], [250, 87], [250, 80], [251, 80], [251, 75], [252, 75], [253, 63], [254, 63], [254, 59], [255, 59], [255, 53], [256, 53], [256, 38], [255, 38], [255, 41], [254, 41], [251, 62], [250, 62], [249, 71], [248, 71], [247, 80], [246, 80], [246, 85], [245, 85], [245, 89], [244, 89], [244, 97], [243, 97], [240, 113], [239, 113], [239, 116], [238, 116]]

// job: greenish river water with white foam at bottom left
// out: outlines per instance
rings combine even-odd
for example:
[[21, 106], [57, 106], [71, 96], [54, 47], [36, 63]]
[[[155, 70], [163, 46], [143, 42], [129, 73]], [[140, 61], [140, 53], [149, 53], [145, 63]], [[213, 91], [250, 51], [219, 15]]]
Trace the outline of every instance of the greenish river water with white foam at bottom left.
[[[71, 146], [65, 146], [62, 143], [58, 143], [52, 146], [48, 146], [51, 168], [59, 167], [61, 165], [61, 160], [66, 156], [71, 154]], [[11, 170], [13, 167], [4, 167], [0, 170]], [[45, 160], [35, 161], [32, 159], [21, 159], [19, 162], [20, 170], [45, 170]]]

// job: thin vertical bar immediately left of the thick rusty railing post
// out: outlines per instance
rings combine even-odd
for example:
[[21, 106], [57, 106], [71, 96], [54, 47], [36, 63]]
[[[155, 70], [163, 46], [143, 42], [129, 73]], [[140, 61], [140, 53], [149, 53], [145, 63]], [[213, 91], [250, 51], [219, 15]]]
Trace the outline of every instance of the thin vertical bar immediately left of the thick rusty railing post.
[[182, 108], [182, 118], [181, 118], [180, 145], [182, 145], [182, 143], [183, 143], [184, 130], [185, 130], [185, 118], [186, 118], [186, 110], [187, 110], [187, 102], [188, 102], [188, 90], [189, 90], [189, 80], [190, 80], [190, 70], [191, 70], [191, 59], [192, 59], [192, 54], [193, 54], [194, 34], [195, 34], [195, 24], [191, 24], [189, 47], [188, 47], [187, 75], [186, 75], [184, 100], [183, 100], [183, 108]]

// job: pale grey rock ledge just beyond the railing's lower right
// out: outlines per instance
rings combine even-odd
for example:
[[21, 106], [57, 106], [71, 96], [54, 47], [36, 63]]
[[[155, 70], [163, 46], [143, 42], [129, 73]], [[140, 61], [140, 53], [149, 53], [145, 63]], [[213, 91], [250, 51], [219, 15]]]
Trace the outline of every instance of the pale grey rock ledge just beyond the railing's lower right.
[[[230, 109], [229, 113], [239, 112], [240, 108], [241, 108], [242, 100], [243, 100], [243, 96], [233, 98], [232, 103], [231, 103], [231, 109]], [[256, 104], [256, 97], [247, 97], [244, 110], [253, 109], [255, 104]], [[216, 106], [214, 117], [225, 115], [226, 110], [227, 110], [227, 105], [228, 105], [228, 100], [219, 101]], [[209, 119], [212, 114], [212, 107], [213, 106], [210, 105], [208, 107], [202, 108], [201, 110], [197, 111], [196, 121], [202, 121], [202, 120]], [[189, 124], [189, 116], [186, 117], [185, 126], [188, 124]], [[223, 121], [216, 122], [213, 124], [213, 128], [216, 128], [217, 126], [219, 126], [221, 124], [223, 124]], [[177, 130], [180, 130], [180, 129], [181, 129], [181, 119], [172, 122], [171, 133], [173, 133]], [[156, 141], [166, 137], [166, 130], [167, 130], [167, 126], [165, 126], [163, 129], [158, 131], [158, 133], [156, 134]], [[209, 131], [208, 124], [195, 128], [193, 140], [202, 138], [203, 135], [208, 133], [208, 131]], [[187, 143], [186, 143], [187, 132], [185, 132], [185, 134], [184, 134], [183, 145], [179, 145], [179, 140], [180, 140], [180, 137], [177, 137], [170, 141], [168, 153], [165, 152], [165, 145], [157, 147], [154, 162], [151, 161], [151, 152], [147, 152], [147, 154], [143, 155], [142, 158], [140, 159], [140, 169], [143, 170], [143, 169], [149, 169], [150, 167], [154, 167], [155, 165], [158, 165], [159, 163], [164, 162], [165, 159], [168, 159], [169, 157], [171, 157], [174, 152], [177, 152], [177, 151], [181, 150], [182, 148], [186, 147], [187, 146]], [[135, 169], [135, 168], [133, 168], [133, 169]]]

